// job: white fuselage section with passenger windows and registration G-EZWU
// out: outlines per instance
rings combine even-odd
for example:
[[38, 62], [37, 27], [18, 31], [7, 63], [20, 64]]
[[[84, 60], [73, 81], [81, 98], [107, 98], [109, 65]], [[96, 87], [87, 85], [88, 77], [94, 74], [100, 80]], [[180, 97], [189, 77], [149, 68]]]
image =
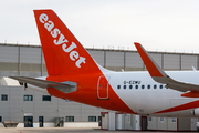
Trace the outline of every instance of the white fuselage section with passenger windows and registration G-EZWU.
[[[176, 81], [199, 84], [197, 71], [168, 71], [166, 73]], [[109, 76], [109, 84], [116, 94], [137, 114], [193, 116], [191, 113], [193, 109], [154, 114], [199, 99], [181, 96], [185, 92], [165, 88], [166, 84], [154, 81], [148, 72], [112, 72], [105, 75]]]

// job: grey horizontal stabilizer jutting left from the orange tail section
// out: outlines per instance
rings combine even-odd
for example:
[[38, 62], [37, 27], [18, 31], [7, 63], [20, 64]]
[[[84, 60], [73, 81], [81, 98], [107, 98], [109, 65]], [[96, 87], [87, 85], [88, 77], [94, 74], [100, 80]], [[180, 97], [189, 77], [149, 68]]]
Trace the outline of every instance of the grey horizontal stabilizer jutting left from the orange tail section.
[[55, 88], [64, 93], [76, 91], [76, 83], [71, 82], [71, 81], [59, 83], [59, 82], [28, 78], [28, 76], [9, 76], [9, 78], [18, 80], [19, 82], [28, 83], [28, 84], [35, 85], [42, 89]]

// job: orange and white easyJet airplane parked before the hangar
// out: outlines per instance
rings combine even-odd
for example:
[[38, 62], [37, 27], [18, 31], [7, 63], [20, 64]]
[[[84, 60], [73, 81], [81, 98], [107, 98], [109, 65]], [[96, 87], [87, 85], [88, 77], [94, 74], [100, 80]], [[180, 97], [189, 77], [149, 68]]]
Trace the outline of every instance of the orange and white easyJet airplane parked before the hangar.
[[138, 43], [147, 71], [115, 72], [101, 66], [53, 10], [34, 10], [48, 76], [9, 76], [24, 88], [124, 113], [199, 116], [199, 72], [164, 71]]

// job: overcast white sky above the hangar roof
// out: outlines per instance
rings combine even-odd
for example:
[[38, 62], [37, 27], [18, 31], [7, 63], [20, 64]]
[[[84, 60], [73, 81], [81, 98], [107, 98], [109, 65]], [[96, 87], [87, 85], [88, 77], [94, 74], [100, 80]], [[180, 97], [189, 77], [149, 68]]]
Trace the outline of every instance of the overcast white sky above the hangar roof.
[[52, 9], [85, 48], [199, 53], [199, 0], [1, 0], [0, 43], [40, 44], [34, 9]]

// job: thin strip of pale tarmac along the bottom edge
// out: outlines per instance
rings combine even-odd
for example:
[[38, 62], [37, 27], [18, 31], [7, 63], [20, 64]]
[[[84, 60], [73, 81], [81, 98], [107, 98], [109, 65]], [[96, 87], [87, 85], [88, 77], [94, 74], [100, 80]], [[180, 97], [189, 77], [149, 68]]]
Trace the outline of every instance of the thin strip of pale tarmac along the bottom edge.
[[[180, 133], [180, 132], [154, 132], [154, 131], [144, 131], [145, 133]], [[13, 127], [0, 127], [0, 133], [140, 133], [137, 131], [104, 131], [101, 129], [66, 129], [66, 127], [23, 127], [23, 129], [13, 129]], [[186, 132], [186, 133], [198, 133], [198, 132]]]

